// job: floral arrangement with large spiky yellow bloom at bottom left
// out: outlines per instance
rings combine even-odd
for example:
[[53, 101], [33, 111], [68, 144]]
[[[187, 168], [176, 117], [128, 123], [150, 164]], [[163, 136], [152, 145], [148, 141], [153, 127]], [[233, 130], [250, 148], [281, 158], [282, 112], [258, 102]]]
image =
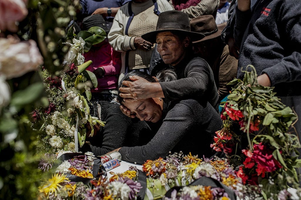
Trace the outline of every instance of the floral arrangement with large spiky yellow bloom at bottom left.
[[[57, 157], [47, 157], [45, 162], [40, 163], [40, 169], [54, 173], [51, 178], [42, 181], [39, 199], [135, 199], [142, 188], [137, 182], [135, 167], [129, 173], [131, 176], [108, 180], [102, 173], [98, 176], [92, 174], [93, 167], [98, 164], [95, 165], [95, 161], [100, 160], [91, 152], [72, 155], [60, 153]], [[67, 159], [58, 164], [61, 157]]]

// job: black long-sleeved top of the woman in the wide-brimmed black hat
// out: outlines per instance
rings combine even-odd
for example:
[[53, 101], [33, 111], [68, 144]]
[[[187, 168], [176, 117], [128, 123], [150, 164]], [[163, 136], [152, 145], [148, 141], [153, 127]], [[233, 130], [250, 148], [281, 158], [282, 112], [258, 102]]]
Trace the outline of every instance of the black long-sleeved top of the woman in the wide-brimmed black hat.
[[[218, 99], [214, 76], [209, 64], [200, 57], [188, 53], [176, 66], [169, 65], [175, 70], [175, 81], [160, 82], [165, 100], [167, 102], [180, 99], [195, 99], [206, 106], [209, 102], [218, 110]], [[153, 69], [154, 70], [154, 69]]]

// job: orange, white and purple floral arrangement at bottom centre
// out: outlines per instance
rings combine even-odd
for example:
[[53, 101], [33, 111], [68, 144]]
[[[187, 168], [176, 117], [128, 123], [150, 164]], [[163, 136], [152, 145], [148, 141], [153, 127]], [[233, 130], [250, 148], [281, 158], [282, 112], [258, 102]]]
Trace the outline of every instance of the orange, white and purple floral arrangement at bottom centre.
[[[202, 177], [219, 181], [234, 191], [239, 199], [244, 199], [245, 196], [255, 199], [258, 196], [258, 187], [245, 187], [242, 179], [224, 158], [200, 159], [198, 156], [183, 155], [180, 152], [171, 154], [166, 159], [147, 160], [142, 165], [142, 171], [146, 173], [147, 185], [144, 199], [229, 199], [228, 194], [221, 187], [188, 186]], [[140, 173], [134, 169], [118, 174], [111, 172], [113, 176], [110, 180], [133, 179]], [[165, 197], [166, 192], [175, 186], [183, 187], [178, 192], [172, 191], [171, 198]]]

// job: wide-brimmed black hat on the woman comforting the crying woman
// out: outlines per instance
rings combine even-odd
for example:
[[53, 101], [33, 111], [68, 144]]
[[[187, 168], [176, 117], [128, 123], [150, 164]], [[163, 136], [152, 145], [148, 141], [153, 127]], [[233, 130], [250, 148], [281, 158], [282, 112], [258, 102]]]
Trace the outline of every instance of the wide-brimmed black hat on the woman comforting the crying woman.
[[188, 15], [179, 10], [169, 10], [160, 13], [156, 31], [145, 33], [141, 37], [151, 43], [156, 43], [157, 34], [166, 31], [178, 31], [181, 35], [189, 36], [192, 42], [205, 37], [201, 33], [191, 31]]

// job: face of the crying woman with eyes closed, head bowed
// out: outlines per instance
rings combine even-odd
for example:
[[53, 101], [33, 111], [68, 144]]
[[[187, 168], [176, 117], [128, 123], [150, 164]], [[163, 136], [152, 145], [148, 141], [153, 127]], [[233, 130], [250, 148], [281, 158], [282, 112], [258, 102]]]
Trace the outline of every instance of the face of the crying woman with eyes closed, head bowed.
[[[133, 102], [122, 102], [141, 121], [159, 121], [162, 117], [163, 103], [158, 98], [148, 98]], [[162, 104], [162, 105], [161, 105]]]

